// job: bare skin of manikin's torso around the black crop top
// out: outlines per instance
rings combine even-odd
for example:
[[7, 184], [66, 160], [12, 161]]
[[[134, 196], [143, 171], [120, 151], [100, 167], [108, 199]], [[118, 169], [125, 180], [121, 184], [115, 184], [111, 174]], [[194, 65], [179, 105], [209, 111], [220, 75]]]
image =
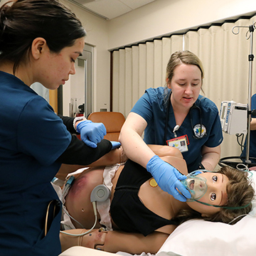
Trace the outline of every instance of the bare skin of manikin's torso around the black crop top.
[[[183, 159], [178, 159], [174, 156], [164, 156], [162, 159], [170, 162], [171, 165], [175, 166], [176, 169], [181, 171], [183, 174], [187, 174], [186, 162]], [[114, 196], [114, 188], [117, 185], [117, 180], [123, 167], [124, 166], [119, 166], [114, 178], [112, 178], [113, 186], [110, 201], [112, 201]], [[95, 221], [92, 203], [90, 202], [90, 193], [95, 186], [102, 184], [103, 170], [103, 167], [92, 167], [83, 171], [83, 173], [76, 178], [75, 184], [70, 188], [70, 192], [65, 198], [65, 207], [68, 209], [68, 212], [73, 216], [73, 218], [78, 220], [84, 228], [92, 228]], [[169, 195], [169, 193], [162, 191], [159, 186], [150, 186], [149, 180], [142, 184], [139, 189], [138, 196], [146, 208], [151, 210], [153, 213], [156, 213], [156, 215], [169, 220], [174, 218], [179, 209], [188, 207], [186, 203], [177, 201], [173, 196]], [[98, 218], [99, 217], [100, 216], [98, 215]], [[81, 228], [81, 226], [78, 223], [75, 223], [75, 221], [73, 221], [73, 224], [76, 228]], [[112, 226], [114, 229], [118, 229], [113, 222]], [[96, 228], [100, 228], [100, 224], [97, 224]], [[159, 228], [157, 231], [169, 234], [175, 228], [175, 225], [166, 225]]]

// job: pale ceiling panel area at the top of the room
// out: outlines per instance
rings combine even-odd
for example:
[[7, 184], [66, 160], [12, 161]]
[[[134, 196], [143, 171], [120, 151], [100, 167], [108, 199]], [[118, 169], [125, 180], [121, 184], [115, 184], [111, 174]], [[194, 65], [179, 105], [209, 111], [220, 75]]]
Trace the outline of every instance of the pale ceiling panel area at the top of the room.
[[116, 18], [156, 0], [68, 0], [105, 19]]

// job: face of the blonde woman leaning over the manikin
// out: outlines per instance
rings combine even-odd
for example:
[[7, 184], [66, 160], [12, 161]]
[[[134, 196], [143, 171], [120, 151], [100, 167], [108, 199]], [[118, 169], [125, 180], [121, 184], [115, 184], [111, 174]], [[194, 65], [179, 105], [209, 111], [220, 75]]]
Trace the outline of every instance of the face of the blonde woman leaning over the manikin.
[[201, 90], [201, 70], [196, 65], [178, 65], [174, 70], [171, 82], [167, 81], [171, 88], [171, 105], [175, 108], [189, 110], [198, 99]]

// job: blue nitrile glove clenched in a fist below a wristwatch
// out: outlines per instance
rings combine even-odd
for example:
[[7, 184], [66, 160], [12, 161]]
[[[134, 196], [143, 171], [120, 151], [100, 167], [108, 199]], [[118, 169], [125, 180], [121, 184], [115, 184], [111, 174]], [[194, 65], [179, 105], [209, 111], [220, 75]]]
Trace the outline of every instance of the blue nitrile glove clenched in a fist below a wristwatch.
[[94, 123], [90, 120], [85, 120], [78, 123], [76, 127], [80, 133], [81, 140], [92, 148], [97, 147], [97, 143], [101, 142], [104, 136], [107, 134], [105, 125], [102, 123]]

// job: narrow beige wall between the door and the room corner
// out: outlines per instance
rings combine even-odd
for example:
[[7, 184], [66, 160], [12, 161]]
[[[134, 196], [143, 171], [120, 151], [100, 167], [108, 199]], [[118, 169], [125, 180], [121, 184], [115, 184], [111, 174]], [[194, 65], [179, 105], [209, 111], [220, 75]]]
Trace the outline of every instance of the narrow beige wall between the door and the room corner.
[[[63, 0], [63, 4], [70, 7], [82, 22], [82, 26], [87, 31], [85, 43], [94, 46], [94, 77], [93, 82], [93, 112], [99, 111], [100, 108], [110, 109], [110, 52], [107, 50], [107, 21], [103, 18], [90, 14], [80, 9], [78, 6]], [[72, 86], [71, 86], [72, 88]], [[70, 99], [70, 82], [63, 87], [64, 97]], [[70, 102], [70, 100], [68, 101]], [[67, 112], [68, 106], [63, 107]]]

